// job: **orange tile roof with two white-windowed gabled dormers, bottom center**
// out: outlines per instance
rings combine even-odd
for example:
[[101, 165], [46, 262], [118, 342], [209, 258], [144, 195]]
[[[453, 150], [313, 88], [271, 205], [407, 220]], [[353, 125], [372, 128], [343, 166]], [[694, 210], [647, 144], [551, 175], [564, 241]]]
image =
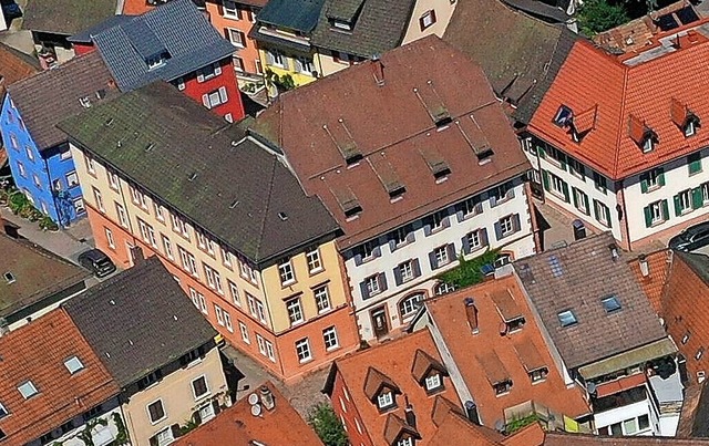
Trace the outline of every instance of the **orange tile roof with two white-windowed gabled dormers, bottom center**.
[[[429, 395], [425, 388], [419, 384], [411, 375], [415, 352], [421, 350], [435, 361], [441, 362], [433, 339], [428, 330], [421, 330], [412, 334], [390, 341], [378, 346], [360, 351], [358, 353], [347, 355], [335, 361], [331, 370], [332, 373], [339, 373], [342, 376], [345, 385], [351, 396], [351, 402], [360, 415], [363, 426], [370, 434], [374, 444], [383, 444], [384, 432], [387, 426], [387, 415], [394, 414], [401, 419], [404, 416], [404, 398], [413, 406], [417, 415], [417, 431], [422, 442], [417, 445], [429, 445], [433, 434], [438, 431], [434, 418], [434, 406], [439, 407], [435, 417], [442, 423], [444, 414], [450, 411], [450, 406], [458, 408], [462, 413], [462, 405], [458, 398], [458, 394], [453, 388], [452, 382], [443, 377], [444, 390], [434, 395]], [[369, 364], [376, 364], [377, 370], [386, 376], [390, 376], [401, 395], [397, 396], [398, 408], [381, 414], [377, 407], [377, 403], [372, 403], [370, 397], [364, 393], [364, 383], [369, 371], [372, 370]], [[326, 388], [327, 391], [327, 388]], [[442, 402], [440, 397], [444, 397], [454, 404]], [[392, 422], [393, 423], [393, 422]]]

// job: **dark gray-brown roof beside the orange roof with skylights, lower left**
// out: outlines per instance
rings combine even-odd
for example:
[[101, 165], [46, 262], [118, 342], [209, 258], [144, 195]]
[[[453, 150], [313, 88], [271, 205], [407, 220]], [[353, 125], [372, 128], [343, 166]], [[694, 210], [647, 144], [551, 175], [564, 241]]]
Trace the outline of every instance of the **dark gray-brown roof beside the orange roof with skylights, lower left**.
[[63, 307], [122, 387], [217, 334], [157, 257]]

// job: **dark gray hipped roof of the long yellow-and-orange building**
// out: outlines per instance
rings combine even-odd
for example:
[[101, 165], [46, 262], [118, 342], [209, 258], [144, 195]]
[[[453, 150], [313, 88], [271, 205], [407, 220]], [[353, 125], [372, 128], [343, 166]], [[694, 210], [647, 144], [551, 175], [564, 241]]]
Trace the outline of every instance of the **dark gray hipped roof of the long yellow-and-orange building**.
[[60, 127], [254, 262], [277, 260], [338, 228], [278, 157], [244, 139], [239, 125], [164, 82], [92, 107]]

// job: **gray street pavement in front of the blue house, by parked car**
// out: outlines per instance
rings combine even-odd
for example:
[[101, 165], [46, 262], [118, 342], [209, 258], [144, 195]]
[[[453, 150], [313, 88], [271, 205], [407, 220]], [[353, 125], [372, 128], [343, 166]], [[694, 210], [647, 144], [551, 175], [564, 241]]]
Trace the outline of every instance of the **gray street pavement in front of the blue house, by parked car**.
[[16, 216], [7, 207], [0, 208], [0, 215], [4, 220], [18, 227], [20, 236], [74, 263], [81, 252], [94, 247], [88, 218], [75, 222], [71, 228], [50, 232], [40, 229], [37, 222]]

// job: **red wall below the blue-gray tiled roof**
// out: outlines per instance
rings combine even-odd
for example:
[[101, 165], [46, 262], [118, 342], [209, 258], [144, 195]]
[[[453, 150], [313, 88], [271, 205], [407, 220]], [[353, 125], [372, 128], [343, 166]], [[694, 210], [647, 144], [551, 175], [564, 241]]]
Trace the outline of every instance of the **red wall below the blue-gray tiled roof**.
[[[219, 66], [222, 66], [222, 74], [208, 81], [198, 82], [197, 71], [183, 76], [185, 83], [183, 93], [202, 104], [203, 94], [212, 93], [220, 86], [225, 86], [227, 102], [219, 104], [212, 108], [212, 111], [219, 116], [230, 113], [233, 121], [236, 122], [244, 117], [244, 104], [242, 103], [242, 93], [236, 83], [232, 56], [229, 55], [219, 61]], [[173, 84], [177, 85], [177, 82], [173, 81]]]

